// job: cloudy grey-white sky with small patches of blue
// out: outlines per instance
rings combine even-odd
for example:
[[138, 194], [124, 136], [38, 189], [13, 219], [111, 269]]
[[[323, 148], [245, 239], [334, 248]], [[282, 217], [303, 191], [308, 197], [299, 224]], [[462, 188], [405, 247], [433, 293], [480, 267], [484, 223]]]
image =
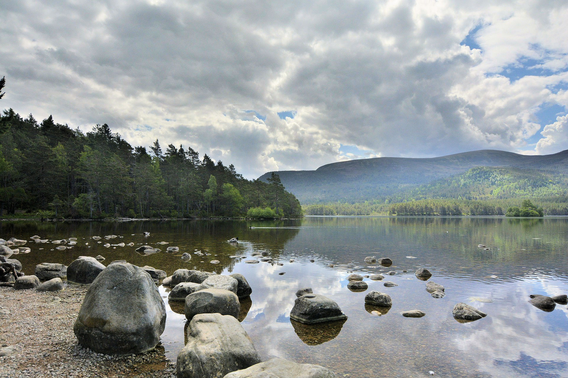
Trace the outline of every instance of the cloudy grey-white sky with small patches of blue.
[[249, 179], [379, 156], [568, 149], [568, 2], [0, 2], [0, 108]]

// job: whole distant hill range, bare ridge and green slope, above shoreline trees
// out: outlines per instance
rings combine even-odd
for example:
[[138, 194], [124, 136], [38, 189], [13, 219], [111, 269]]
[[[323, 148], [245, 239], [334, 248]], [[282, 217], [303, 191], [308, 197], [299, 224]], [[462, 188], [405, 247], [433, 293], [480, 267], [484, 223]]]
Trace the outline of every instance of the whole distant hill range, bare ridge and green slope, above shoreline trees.
[[[511, 169], [470, 171], [476, 167]], [[266, 181], [270, 173], [260, 180]], [[326, 164], [315, 171], [276, 173], [286, 189], [306, 204], [459, 196], [513, 198], [522, 190], [533, 193], [527, 194], [531, 196], [538, 195], [535, 188], [549, 194], [566, 189], [563, 177], [568, 173], [568, 150], [552, 155], [479, 150], [438, 158], [361, 159]]]

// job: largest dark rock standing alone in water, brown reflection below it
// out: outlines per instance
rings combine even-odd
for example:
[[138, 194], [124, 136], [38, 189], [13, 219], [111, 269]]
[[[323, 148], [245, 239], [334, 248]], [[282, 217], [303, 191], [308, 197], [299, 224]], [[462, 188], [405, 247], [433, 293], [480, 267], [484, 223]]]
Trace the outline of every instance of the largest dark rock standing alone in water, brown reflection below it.
[[305, 294], [296, 298], [290, 317], [306, 324], [347, 318], [335, 301], [319, 294]]

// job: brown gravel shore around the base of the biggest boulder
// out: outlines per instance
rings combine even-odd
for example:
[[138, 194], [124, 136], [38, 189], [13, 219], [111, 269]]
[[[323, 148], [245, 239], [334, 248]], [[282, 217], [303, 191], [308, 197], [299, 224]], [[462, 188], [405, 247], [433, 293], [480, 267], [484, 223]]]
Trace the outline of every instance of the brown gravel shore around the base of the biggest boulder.
[[[0, 377], [175, 377], [176, 366], [164, 348], [131, 356], [98, 354], [78, 344], [73, 324], [87, 286], [37, 292], [0, 287]], [[9, 312], [9, 313], [6, 313]], [[11, 350], [12, 348], [8, 348]]]

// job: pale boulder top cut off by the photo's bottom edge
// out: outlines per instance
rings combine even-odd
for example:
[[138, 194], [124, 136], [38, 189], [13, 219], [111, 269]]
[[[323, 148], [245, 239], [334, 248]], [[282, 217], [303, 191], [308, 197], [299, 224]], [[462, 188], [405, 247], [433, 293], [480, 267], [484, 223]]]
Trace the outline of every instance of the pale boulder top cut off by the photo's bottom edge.
[[337, 375], [323, 366], [273, 358], [243, 370], [233, 371], [223, 378], [337, 378]]

